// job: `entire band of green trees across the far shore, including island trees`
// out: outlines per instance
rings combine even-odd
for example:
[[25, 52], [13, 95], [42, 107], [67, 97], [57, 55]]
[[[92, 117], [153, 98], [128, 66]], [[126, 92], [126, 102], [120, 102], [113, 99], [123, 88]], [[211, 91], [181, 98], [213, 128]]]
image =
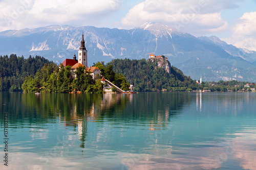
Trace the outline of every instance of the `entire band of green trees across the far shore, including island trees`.
[[[73, 89], [83, 93], [102, 93], [102, 76], [122, 90], [134, 91], [251, 91], [256, 85], [250, 82], [219, 81], [197, 84], [175, 66], [170, 73], [157, 67], [157, 62], [146, 59], [115, 59], [104, 64], [94, 63], [101, 71], [101, 76], [93, 80], [85, 67], [78, 67], [76, 78], [71, 77], [71, 66], [58, 66], [44, 57], [29, 56], [28, 59], [15, 54], [0, 57], [0, 91], [24, 91], [42, 93], [68, 93]], [[113, 91], [116, 89], [113, 88]]]

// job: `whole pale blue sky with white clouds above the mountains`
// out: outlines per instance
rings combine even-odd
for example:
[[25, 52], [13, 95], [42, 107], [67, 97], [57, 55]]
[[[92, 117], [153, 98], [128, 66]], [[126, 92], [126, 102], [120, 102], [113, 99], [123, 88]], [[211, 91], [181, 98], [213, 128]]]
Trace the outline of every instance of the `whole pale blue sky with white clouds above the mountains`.
[[133, 29], [160, 22], [256, 51], [256, 0], [0, 0], [0, 32], [49, 25]]

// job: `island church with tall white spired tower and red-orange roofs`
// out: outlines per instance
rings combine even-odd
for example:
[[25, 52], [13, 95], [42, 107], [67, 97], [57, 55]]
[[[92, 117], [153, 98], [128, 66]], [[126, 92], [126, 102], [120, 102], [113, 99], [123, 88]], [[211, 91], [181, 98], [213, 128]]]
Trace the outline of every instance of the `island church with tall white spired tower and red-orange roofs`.
[[[71, 67], [71, 75], [72, 75], [73, 79], [76, 78], [75, 70], [80, 66], [85, 66], [86, 69], [90, 72], [90, 75], [93, 77], [93, 79], [96, 78], [97, 74], [99, 74], [99, 76], [100, 76], [100, 69], [95, 66], [88, 67], [87, 61], [88, 61], [87, 60], [87, 50], [86, 50], [86, 46], [84, 44], [83, 33], [82, 33], [81, 45], [78, 50], [78, 60], [76, 59], [76, 55], [74, 55], [73, 59], [66, 59], [61, 64], [65, 67], [68, 65], [72, 66]], [[59, 68], [60, 68], [60, 65], [59, 65]]]

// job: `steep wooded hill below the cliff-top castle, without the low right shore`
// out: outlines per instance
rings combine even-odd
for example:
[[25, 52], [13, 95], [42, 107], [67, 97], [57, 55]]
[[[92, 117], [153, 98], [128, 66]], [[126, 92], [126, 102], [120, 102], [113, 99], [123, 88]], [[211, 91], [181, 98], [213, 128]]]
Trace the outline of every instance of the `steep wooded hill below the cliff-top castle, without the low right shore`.
[[195, 81], [184, 76], [180, 69], [171, 66], [168, 60], [165, 61], [170, 66], [169, 73], [163, 67], [158, 67], [160, 60], [115, 59], [107, 65], [113, 65], [113, 71], [124, 75], [136, 91], [185, 91], [188, 87], [192, 88], [191, 86], [194, 89], [198, 87]]

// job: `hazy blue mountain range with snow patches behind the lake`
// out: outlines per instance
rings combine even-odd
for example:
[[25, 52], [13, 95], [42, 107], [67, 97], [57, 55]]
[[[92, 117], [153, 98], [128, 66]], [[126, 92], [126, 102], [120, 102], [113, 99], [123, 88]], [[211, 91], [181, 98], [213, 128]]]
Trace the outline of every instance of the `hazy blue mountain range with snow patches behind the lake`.
[[131, 30], [93, 26], [48, 26], [0, 32], [0, 55], [44, 56], [56, 63], [77, 55], [80, 41], [88, 65], [117, 58], [142, 59], [164, 55], [186, 76], [203, 81], [256, 82], [256, 52], [238, 48], [218, 37], [195, 37], [161, 23], [147, 22]]

